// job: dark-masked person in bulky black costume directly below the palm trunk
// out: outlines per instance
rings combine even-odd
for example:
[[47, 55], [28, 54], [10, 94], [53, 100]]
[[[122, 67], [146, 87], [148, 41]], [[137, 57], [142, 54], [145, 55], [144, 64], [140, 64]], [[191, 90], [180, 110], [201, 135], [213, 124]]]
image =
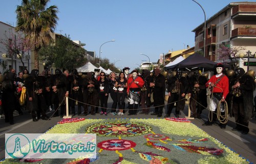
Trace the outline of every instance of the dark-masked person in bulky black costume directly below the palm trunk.
[[[45, 92], [45, 78], [39, 75], [39, 70], [33, 69], [25, 80], [26, 94], [27, 94], [27, 107], [32, 114], [33, 121], [48, 120], [46, 115], [46, 100]], [[36, 114], [35, 114], [36, 112]], [[40, 116], [42, 115], [42, 116]], [[37, 116], [37, 119], [36, 119]]]

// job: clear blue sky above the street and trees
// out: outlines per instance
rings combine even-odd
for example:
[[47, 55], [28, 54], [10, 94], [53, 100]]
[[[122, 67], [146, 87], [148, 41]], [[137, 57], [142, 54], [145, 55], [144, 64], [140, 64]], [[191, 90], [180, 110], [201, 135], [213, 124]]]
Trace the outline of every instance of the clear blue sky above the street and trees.
[[[16, 25], [16, 7], [21, 0], [1, 1], [0, 21]], [[226, 0], [197, 0], [204, 8], [206, 19], [231, 2]], [[254, 1], [248, 1], [254, 2]], [[191, 32], [204, 22], [204, 14], [192, 0], [52, 0], [58, 7], [56, 33], [70, 35], [72, 40], [86, 43], [89, 51], [108, 58], [116, 67], [138, 67], [142, 60], [157, 62], [160, 53], [193, 47]], [[136, 63], [136, 64], [135, 64]], [[131, 71], [130, 70], [130, 71]]]

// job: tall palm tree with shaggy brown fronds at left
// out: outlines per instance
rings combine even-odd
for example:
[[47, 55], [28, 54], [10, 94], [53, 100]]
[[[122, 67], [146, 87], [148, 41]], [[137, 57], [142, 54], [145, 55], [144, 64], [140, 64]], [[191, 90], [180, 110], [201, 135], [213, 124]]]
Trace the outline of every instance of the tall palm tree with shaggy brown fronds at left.
[[57, 6], [49, 8], [50, 0], [22, 0], [22, 5], [17, 6], [16, 31], [23, 31], [30, 42], [34, 43], [35, 69], [39, 69], [38, 51], [42, 45], [49, 44], [50, 33], [53, 33], [57, 25]]

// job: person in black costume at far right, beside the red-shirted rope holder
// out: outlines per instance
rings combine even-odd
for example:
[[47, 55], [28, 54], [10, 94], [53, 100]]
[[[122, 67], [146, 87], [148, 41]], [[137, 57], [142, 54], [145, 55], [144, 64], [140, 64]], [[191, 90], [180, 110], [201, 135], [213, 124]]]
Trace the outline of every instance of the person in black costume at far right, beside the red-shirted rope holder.
[[[231, 87], [231, 116], [234, 116], [237, 126], [232, 130], [249, 132], [249, 120], [253, 117], [253, 91], [255, 90], [254, 78], [248, 73], [244, 74], [243, 68], [237, 68]], [[253, 73], [254, 76], [254, 73]]]

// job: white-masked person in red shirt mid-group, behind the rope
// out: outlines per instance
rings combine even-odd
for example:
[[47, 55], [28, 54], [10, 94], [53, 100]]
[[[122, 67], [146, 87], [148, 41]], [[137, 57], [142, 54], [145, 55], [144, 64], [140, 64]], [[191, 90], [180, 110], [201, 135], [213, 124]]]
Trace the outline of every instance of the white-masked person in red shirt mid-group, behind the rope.
[[127, 81], [127, 95], [130, 100], [128, 116], [137, 115], [137, 109], [140, 102], [140, 88], [144, 85], [144, 81], [138, 76], [137, 70], [133, 70], [131, 74], [132, 76]]

